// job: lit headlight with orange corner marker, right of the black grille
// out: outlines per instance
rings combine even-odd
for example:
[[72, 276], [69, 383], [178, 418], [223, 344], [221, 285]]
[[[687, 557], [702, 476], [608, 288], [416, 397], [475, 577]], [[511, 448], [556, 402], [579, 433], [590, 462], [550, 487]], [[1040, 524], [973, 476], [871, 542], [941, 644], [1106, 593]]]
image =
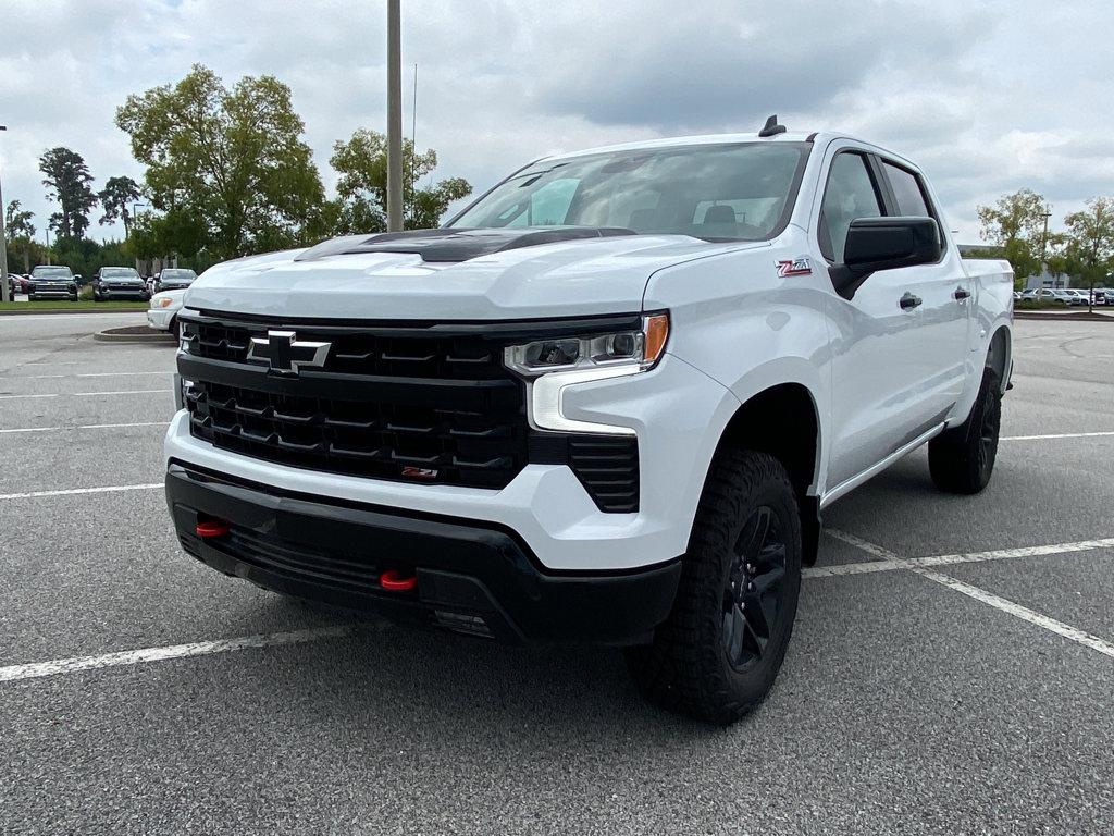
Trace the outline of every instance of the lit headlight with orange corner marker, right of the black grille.
[[566, 387], [637, 374], [652, 369], [665, 351], [668, 314], [643, 318], [638, 331], [536, 340], [509, 345], [504, 362], [527, 378], [530, 422], [541, 430], [633, 436], [634, 429], [564, 415]]

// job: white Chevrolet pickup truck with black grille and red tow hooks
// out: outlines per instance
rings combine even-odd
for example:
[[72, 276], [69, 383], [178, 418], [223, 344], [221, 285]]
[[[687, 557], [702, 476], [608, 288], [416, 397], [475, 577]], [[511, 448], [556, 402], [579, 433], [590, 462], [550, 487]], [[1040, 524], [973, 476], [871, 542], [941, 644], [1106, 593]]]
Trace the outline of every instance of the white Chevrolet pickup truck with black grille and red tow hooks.
[[920, 445], [979, 492], [1013, 275], [841, 134], [596, 148], [439, 230], [207, 271], [178, 314], [183, 547], [301, 598], [627, 646], [726, 722], [771, 688], [825, 506]]

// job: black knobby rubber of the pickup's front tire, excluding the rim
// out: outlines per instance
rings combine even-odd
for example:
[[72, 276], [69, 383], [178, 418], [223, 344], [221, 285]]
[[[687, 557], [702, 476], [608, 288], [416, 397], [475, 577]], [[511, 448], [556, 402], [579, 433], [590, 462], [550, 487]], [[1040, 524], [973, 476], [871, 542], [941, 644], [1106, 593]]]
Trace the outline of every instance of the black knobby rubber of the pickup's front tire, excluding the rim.
[[[725, 594], [736, 545], [755, 514], [771, 516], [784, 542], [778, 616], [760, 659], [734, 668], [725, 648]], [[746, 714], [773, 685], [792, 634], [801, 586], [801, 520], [784, 467], [768, 454], [722, 451], [713, 464], [682, 559], [681, 582], [668, 619], [651, 645], [627, 650], [639, 689], [654, 702], [714, 723]], [[753, 613], [753, 609], [751, 611]]]

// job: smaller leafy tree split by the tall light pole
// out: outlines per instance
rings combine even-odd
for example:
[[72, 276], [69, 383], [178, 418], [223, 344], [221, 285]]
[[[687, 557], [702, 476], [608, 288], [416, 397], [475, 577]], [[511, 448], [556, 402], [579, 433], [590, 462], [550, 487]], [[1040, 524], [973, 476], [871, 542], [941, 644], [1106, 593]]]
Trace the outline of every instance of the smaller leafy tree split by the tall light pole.
[[[343, 208], [341, 227], [336, 232], [374, 233], [385, 228], [387, 218], [387, 137], [375, 130], [360, 128], [348, 142], [333, 145], [329, 164], [341, 175], [336, 184]], [[471, 194], [472, 187], [462, 177], [449, 177], [424, 188], [418, 181], [437, 168], [437, 152], [414, 152], [410, 139], [402, 143], [402, 205], [407, 230], [436, 227], [449, 204]], [[349, 228], [346, 222], [359, 221], [363, 228]]]

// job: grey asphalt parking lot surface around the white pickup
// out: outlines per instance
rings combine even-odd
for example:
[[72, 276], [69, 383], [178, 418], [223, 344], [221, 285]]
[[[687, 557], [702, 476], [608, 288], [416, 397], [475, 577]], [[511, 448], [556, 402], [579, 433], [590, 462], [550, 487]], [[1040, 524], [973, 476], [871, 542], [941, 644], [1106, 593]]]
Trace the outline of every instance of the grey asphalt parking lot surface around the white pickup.
[[723, 729], [614, 650], [353, 621], [188, 558], [174, 349], [90, 337], [135, 322], [0, 320], [0, 831], [1114, 830], [1114, 327], [1017, 323], [981, 495], [919, 451], [828, 509], [778, 684]]

